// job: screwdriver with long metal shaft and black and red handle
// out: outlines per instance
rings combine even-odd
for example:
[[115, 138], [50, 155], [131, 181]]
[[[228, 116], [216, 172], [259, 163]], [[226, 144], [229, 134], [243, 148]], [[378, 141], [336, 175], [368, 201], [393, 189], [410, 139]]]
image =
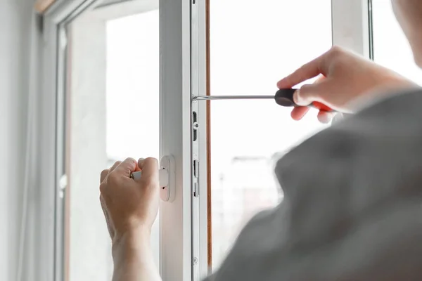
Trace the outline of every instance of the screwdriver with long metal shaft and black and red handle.
[[[293, 100], [293, 93], [298, 89], [279, 89], [276, 91], [275, 96], [193, 96], [192, 101], [196, 100], [264, 100], [274, 99], [278, 105], [283, 107], [299, 107]], [[314, 107], [318, 110], [326, 112], [335, 112], [327, 105], [314, 101], [307, 105], [308, 107]]]

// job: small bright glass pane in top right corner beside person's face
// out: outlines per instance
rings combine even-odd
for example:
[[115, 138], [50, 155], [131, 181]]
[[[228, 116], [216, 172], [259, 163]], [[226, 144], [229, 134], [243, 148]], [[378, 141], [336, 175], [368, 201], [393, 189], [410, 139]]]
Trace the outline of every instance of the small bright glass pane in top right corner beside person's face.
[[422, 71], [392, 11], [390, 1], [372, 0], [373, 53], [376, 63], [422, 85]]

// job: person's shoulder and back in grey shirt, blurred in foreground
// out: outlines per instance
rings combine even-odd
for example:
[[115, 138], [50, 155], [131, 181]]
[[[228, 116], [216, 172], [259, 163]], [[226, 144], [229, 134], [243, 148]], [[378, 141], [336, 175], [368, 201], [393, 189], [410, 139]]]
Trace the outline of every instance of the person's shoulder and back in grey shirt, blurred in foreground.
[[321, 131], [276, 165], [284, 200], [212, 281], [422, 280], [422, 92]]

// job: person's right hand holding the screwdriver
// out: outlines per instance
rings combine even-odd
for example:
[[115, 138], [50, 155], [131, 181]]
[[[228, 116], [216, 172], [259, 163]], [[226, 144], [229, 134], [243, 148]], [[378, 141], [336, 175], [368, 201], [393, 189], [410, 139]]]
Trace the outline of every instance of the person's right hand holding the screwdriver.
[[[279, 89], [293, 86], [318, 77], [314, 84], [305, 85], [293, 96], [298, 105], [309, 105], [317, 101], [328, 105], [339, 112], [350, 113], [350, 102], [375, 91], [402, 89], [414, 86], [411, 81], [385, 67], [350, 53], [337, 46], [319, 58], [303, 65], [288, 77], [281, 79]], [[295, 107], [291, 116], [300, 120], [306, 115], [309, 107]], [[328, 123], [333, 113], [320, 111], [320, 122]]]

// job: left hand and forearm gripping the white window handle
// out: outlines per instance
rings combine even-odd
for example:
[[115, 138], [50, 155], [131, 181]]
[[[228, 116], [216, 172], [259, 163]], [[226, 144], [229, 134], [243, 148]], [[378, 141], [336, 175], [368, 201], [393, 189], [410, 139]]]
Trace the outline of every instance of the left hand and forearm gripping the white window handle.
[[[142, 171], [139, 181], [130, 178], [134, 171]], [[150, 245], [160, 202], [157, 159], [116, 162], [101, 172], [100, 191], [113, 241], [113, 280], [161, 280]]]

